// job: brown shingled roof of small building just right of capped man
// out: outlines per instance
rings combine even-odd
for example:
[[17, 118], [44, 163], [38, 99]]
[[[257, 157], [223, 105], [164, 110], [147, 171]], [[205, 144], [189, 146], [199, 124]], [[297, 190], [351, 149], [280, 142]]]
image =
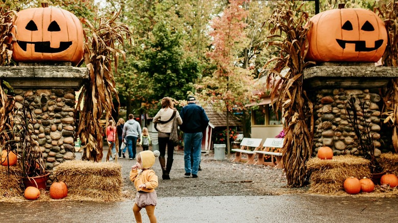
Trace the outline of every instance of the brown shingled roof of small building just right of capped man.
[[[227, 112], [219, 113], [215, 109], [213, 109], [213, 105], [207, 104], [203, 106], [206, 111], [206, 115], [209, 118], [209, 125], [211, 127], [223, 127], [227, 126]], [[230, 126], [241, 126], [242, 124], [238, 119], [235, 118], [232, 114], [229, 116], [229, 125]]]

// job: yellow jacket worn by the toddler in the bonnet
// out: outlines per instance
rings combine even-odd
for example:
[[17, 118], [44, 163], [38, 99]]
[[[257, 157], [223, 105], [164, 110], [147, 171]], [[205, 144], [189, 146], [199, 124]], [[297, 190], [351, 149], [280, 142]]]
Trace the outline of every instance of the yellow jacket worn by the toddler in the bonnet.
[[[158, 176], [151, 169], [145, 169], [142, 172], [141, 170], [131, 170], [130, 180], [134, 182], [137, 191], [153, 192], [159, 185]], [[145, 184], [146, 188], [138, 188], [141, 184]]]

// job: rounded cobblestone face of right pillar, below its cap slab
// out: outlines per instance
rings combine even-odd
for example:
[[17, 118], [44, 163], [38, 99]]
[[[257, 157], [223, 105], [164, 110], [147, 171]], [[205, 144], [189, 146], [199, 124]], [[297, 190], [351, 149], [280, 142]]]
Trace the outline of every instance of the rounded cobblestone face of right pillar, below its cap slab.
[[[347, 116], [346, 105], [350, 97], [356, 97], [357, 115], [360, 120], [366, 120], [370, 128], [370, 135], [376, 147], [375, 156], [380, 156], [385, 150], [381, 141], [381, 109], [383, 102], [378, 89], [351, 90], [351, 89], [330, 89], [317, 90], [314, 92], [314, 148], [316, 155], [318, 148], [329, 146], [335, 155], [354, 154], [358, 155], [358, 138], [353, 131], [351, 121]], [[365, 102], [365, 103], [364, 103]], [[364, 104], [362, 110], [360, 104]], [[360, 126], [364, 128], [363, 125]], [[391, 137], [389, 137], [391, 138]], [[387, 137], [385, 138], [385, 140]], [[391, 140], [390, 140], [391, 141]]]

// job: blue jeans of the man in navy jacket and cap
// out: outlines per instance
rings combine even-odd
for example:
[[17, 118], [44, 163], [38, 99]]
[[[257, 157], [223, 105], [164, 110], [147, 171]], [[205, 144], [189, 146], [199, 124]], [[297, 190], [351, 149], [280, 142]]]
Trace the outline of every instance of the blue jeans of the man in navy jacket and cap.
[[[202, 152], [202, 132], [184, 133], [184, 164], [185, 173], [197, 175], [199, 162], [201, 161]], [[193, 166], [191, 166], [191, 148], [193, 157]]]

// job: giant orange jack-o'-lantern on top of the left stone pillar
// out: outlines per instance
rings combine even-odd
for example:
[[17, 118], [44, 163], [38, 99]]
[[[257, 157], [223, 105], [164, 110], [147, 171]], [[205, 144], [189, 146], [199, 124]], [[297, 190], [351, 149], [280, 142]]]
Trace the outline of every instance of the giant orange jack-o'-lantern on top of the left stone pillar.
[[59, 8], [31, 8], [14, 21], [12, 59], [16, 62], [71, 62], [83, 59], [83, 27], [72, 13]]

